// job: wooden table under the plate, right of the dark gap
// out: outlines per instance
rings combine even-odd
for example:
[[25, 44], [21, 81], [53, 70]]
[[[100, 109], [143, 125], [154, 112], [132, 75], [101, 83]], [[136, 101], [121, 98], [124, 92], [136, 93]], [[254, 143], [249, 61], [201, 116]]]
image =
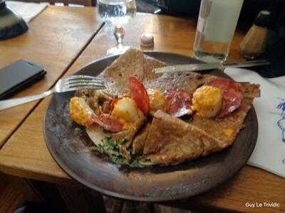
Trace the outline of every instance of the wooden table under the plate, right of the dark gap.
[[[170, 16], [138, 16], [126, 28], [125, 45], [139, 47], [139, 37], [142, 32], [152, 33], [155, 37], [155, 51], [191, 55], [195, 38], [195, 23], [182, 18]], [[237, 33], [232, 43], [229, 59], [242, 60], [239, 57], [238, 44], [242, 33]], [[68, 70], [66, 75], [72, 75], [79, 68], [93, 60], [105, 57], [106, 50], [115, 45], [113, 33], [105, 26], [83, 51], [81, 56]], [[143, 49], [145, 50], [145, 49]], [[0, 170], [13, 175], [37, 180], [53, 182], [72, 182], [53, 161], [48, 153], [43, 139], [43, 115], [48, 105], [48, 99], [43, 100], [24, 124], [14, 133], [0, 151]], [[182, 209], [223, 209], [224, 211], [249, 212], [245, 207], [248, 201], [279, 202], [281, 207], [276, 212], [285, 212], [285, 180], [267, 173], [264, 170], [246, 165], [234, 175], [234, 178], [203, 195], [179, 202], [167, 202], [165, 205], [181, 207]], [[257, 209], [258, 210], [258, 209]], [[271, 209], [269, 209], [271, 210]], [[266, 209], [264, 209], [266, 211]]]

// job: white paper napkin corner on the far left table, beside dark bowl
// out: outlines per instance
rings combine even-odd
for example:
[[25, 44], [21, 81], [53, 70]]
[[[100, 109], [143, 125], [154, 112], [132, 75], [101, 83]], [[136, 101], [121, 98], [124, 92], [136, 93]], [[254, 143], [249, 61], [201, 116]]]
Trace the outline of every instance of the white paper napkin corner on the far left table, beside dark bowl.
[[21, 1], [6, 1], [6, 4], [10, 9], [13, 9], [16, 13], [22, 16], [26, 23], [38, 16], [38, 14], [49, 5], [48, 3], [36, 4]]

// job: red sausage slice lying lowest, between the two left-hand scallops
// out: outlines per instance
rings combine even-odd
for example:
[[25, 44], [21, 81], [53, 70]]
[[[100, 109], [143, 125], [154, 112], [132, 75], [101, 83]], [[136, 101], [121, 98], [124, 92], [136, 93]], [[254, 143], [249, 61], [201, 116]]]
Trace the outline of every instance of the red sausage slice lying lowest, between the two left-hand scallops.
[[100, 116], [93, 116], [93, 121], [95, 124], [103, 127], [103, 129], [112, 131], [112, 132], [119, 132], [123, 131], [123, 124], [118, 119], [113, 119], [110, 117], [110, 114], [100, 114]]

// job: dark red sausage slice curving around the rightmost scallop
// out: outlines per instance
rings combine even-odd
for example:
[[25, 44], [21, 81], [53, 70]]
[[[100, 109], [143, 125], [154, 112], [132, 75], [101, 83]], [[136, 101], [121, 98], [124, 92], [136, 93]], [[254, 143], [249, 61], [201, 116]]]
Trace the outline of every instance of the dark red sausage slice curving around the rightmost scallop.
[[222, 109], [219, 111], [217, 119], [223, 119], [242, 104], [242, 90], [237, 82], [218, 78], [210, 81], [208, 85], [222, 90]]

